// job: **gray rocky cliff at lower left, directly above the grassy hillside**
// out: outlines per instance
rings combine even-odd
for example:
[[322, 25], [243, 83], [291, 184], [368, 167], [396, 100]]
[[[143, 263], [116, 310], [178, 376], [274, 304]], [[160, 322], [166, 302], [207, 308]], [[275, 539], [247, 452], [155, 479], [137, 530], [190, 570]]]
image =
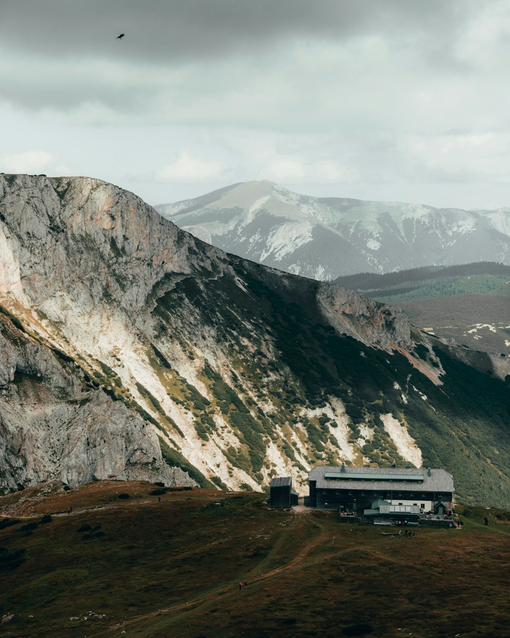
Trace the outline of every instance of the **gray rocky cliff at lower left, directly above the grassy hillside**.
[[161, 459], [157, 436], [0, 314], [0, 490], [59, 479], [195, 485]]

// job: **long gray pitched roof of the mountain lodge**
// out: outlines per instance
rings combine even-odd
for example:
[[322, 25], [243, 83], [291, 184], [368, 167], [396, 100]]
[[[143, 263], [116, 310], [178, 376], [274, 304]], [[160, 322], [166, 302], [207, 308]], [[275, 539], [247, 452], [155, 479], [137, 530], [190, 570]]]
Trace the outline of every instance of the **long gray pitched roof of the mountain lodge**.
[[[350, 476], [349, 476], [350, 475]], [[342, 468], [319, 465], [309, 472], [317, 489], [366, 489], [380, 491], [436, 492], [454, 491], [453, 476], [433, 468]]]

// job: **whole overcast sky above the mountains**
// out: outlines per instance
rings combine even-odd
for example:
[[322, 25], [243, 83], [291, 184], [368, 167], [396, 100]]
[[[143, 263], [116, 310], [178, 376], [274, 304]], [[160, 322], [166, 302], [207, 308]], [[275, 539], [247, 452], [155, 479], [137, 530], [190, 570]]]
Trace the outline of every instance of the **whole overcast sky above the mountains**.
[[0, 0], [0, 171], [510, 206], [509, 73], [507, 0]]

